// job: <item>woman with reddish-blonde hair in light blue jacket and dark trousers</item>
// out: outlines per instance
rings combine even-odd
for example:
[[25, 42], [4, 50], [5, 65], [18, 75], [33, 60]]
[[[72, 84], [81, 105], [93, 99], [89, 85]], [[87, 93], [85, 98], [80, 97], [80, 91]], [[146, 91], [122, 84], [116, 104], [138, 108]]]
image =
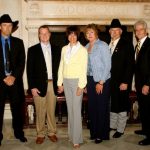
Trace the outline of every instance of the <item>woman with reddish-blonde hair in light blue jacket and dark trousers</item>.
[[101, 143], [109, 139], [111, 54], [108, 45], [98, 38], [98, 28], [95, 24], [86, 26], [85, 37], [89, 41], [86, 48], [90, 139]]

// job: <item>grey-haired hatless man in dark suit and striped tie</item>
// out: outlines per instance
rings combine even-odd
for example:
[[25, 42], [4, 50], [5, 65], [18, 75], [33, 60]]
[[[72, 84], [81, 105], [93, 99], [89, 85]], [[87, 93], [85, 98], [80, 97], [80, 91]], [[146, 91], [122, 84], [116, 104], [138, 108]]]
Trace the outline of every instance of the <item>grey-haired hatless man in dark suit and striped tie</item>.
[[145, 21], [137, 21], [134, 30], [138, 40], [135, 47], [135, 88], [142, 123], [141, 132], [135, 131], [135, 133], [146, 136], [139, 145], [150, 145], [150, 38]]

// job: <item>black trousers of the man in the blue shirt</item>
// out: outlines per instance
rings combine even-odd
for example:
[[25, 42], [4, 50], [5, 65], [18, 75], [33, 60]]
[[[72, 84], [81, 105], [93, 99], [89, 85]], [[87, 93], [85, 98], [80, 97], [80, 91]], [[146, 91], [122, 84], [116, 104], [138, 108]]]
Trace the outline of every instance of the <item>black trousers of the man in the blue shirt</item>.
[[12, 127], [16, 137], [24, 136], [23, 132], [23, 92], [18, 84], [7, 86], [4, 83], [0, 85], [0, 140], [3, 138], [3, 117], [6, 100], [9, 100], [12, 113]]

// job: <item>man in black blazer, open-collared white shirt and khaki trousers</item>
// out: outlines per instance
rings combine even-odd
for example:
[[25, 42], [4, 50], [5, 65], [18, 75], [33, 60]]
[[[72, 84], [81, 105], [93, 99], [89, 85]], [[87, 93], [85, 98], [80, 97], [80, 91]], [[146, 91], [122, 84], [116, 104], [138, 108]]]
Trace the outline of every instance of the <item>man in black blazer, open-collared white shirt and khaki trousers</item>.
[[[36, 109], [36, 143], [42, 144], [46, 134], [52, 142], [57, 142], [55, 95], [57, 94], [60, 51], [50, 44], [51, 32], [47, 25], [39, 27], [38, 36], [40, 43], [28, 50], [27, 77]], [[45, 122], [47, 122], [47, 131]]]

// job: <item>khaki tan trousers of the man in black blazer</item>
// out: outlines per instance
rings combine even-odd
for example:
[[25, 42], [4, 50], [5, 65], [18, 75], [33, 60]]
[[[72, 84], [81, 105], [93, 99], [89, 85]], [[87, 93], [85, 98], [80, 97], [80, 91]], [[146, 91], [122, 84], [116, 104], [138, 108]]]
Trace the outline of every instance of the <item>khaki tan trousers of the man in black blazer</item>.
[[[56, 96], [54, 94], [53, 82], [48, 82], [47, 93], [45, 97], [34, 97], [36, 109], [36, 129], [38, 137], [45, 137], [56, 134], [55, 107]], [[47, 123], [47, 130], [45, 127]]]

